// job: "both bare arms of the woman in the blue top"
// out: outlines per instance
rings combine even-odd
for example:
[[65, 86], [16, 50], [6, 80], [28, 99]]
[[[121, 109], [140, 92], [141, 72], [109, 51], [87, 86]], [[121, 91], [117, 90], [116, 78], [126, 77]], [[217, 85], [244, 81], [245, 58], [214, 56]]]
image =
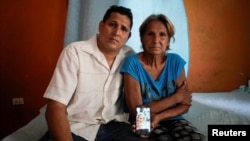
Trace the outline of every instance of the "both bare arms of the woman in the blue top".
[[[129, 74], [124, 74], [124, 89], [125, 89], [125, 100], [129, 108], [129, 113], [132, 121], [135, 121], [136, 106], [142, 105], [141, 89], [139, 82], [137, 82]], [[149, 104], [151, 108], [151, 114], [153, 121], [156, 125], [159, 121], [167, 118], [179, 116], [188, 111], [191, 105], [191, 92], [188, 89], [185, 71], [183, 70], [181, 75], [176, 81], [177, 90], [176, 92], [167, 98], [162, 100], [153, 101]], [[174, 108], [171, 106], [177, 104]]]

